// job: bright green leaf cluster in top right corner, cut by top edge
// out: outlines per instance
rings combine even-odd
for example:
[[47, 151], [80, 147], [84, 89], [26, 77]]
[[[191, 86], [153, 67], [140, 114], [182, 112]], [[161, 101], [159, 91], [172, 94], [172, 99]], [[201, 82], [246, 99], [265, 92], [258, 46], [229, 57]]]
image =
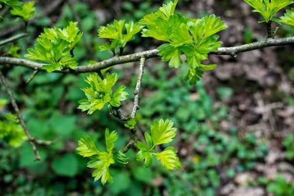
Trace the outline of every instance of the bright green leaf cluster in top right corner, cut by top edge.
[[275, 21], [279, 23], [278, 18], [274, 18], [275, 14], [294, 3], [293, 0], [244, 0], [247, 4], [254, 8], [253, 12], [259, 13], [265, 22]]

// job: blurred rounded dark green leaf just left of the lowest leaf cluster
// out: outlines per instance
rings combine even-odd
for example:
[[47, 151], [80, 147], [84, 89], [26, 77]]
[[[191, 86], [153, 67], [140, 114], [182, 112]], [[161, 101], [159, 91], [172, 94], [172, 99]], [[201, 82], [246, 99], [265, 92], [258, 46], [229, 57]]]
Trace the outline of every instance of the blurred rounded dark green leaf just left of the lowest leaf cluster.
[[78, 161], [73, 154], [66, 154], [53, 160], [52, 169], [57, 175], [74, 177], [78, 172]]

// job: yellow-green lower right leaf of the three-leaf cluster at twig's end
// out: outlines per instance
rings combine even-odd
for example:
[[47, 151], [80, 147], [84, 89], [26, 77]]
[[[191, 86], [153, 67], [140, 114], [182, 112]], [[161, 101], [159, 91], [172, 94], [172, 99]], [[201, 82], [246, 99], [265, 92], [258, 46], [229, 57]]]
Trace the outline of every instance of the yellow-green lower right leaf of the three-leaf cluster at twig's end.
[[164, 151], [156, 153], [156, 159], [160, 160], [161, 164], [169, 170], [179, 169], [182, 163], [177, 157], [177, 151], [174, 147], [170, 146], [165, 148]]

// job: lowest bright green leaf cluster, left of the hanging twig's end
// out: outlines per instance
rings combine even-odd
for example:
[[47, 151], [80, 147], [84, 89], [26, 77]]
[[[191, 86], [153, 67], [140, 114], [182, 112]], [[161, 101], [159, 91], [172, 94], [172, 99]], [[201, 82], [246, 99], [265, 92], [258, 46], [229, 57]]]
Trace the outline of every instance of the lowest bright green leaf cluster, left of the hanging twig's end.
[[107, 181], [112, 182], [112, 175], [109, 169], [111, 164], [114, 162], [120, 164], [128, 163], [128, 157], [125, 154], [113, 150], [114, 143], [117, 139], [118, 135], [116, 131], [109, 133], [108, 128], [105, 130], [105, 152], [98, 151], [89, 136], [85, 136], [78, 142], [79, 147], [77, 151], [79, 151], [79, 154], [83, 157], [91, 157], [92, 159], [87, 164], [88, 167], [95, 169], [92, 173], [92, 177], [94, 177], [95, 181], [101, 178], [101, 183], [103, 185], [105, 185]]

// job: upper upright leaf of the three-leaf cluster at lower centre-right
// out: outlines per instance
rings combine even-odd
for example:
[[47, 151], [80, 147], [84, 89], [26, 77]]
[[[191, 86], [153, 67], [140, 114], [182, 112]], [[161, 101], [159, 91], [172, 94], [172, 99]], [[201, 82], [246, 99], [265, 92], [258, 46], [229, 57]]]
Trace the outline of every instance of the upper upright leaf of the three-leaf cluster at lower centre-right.
[[151, 138], [154, 145], [170, 143], [176, 136], [176, 128], [173, 128], [173, 122], [170, 120], [154, 121], [151, 125]]

